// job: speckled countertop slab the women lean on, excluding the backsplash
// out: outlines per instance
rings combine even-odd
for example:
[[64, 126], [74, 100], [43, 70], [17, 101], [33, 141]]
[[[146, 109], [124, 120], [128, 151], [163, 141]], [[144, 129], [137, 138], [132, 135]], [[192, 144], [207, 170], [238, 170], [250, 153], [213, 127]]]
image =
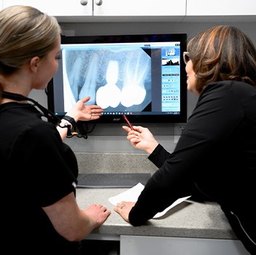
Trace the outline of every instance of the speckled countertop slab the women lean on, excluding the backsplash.
[[133, 227], [124, 221], [109, 203], [108, 198], [128, 188], [78, 188], [77, 203], [87, 208], [92, 203], [106, 205], [111, 214], [93, 233], [101, 235], [144, 235], [179, 238], [237, 239], [220, 205], [216, 203], [182, 202], [163, 218], [150, 219], [147, 225]]

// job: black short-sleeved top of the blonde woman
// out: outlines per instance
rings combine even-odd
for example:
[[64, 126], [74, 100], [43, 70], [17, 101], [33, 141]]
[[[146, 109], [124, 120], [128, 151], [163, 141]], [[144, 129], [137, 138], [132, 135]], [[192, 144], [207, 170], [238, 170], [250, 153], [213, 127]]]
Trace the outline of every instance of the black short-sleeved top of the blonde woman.
[[1, 243], [19, 253], [76, 254], [77, 243], [58, 235], [42, 210], [75, 193], [74, 152], [29, 103], [0, 106], [0, 141]]

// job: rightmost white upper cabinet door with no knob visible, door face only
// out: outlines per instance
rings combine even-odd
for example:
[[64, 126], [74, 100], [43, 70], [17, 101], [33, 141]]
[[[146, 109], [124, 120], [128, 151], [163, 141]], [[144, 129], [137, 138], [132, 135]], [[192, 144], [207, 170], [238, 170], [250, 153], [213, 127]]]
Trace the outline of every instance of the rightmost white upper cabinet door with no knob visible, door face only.
[[256, 15], [255, 0], [187, 0], [187, 16]]

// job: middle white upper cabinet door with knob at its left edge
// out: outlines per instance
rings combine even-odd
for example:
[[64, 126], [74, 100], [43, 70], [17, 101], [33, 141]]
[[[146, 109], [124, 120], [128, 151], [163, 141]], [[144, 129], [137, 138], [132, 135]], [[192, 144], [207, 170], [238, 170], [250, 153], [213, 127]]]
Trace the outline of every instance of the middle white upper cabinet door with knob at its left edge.
[[186, 0], [93, 0], [94, 16], [185, 16]]

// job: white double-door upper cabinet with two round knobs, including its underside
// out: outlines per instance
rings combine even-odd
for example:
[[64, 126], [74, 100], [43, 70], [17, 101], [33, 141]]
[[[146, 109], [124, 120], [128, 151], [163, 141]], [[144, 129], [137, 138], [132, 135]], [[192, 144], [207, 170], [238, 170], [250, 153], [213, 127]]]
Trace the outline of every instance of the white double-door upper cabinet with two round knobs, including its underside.
[[79, 21], [182, 21], [186, 0], [3, 0], [3, 7], [31, 5], [58, 18]]

